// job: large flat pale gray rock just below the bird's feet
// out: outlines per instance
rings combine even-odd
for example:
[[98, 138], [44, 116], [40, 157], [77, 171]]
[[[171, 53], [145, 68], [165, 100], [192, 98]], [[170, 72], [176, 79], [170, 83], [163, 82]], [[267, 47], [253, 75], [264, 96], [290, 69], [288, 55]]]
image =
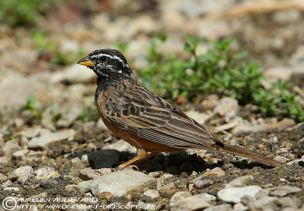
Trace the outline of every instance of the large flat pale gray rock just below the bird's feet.
[[132, 170], [121, 170], [104, 174], [96, 179], [83, 181], [78, 184], [81, 188], [92, 186], [98, 187], [99, 193], [110, 192], [116, 196], [123, 196], [133, 190], [140, 190], [143, 187], [154, 185], [156, 179], [145, 175], [142, 172]]

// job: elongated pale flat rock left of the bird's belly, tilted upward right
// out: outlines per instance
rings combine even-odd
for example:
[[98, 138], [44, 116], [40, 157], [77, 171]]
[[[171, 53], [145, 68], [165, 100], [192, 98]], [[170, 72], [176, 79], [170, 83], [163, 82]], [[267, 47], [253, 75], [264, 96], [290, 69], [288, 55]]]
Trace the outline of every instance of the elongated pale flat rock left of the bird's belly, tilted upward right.
[[45, 132], [39, 137], [34, 137], [29, 142], [30, 149], [43, 149], [47, 144], [57, 141], [62, 141], [71, 137], [74, 137], [75, 130], [68, 129], [60, 132]]

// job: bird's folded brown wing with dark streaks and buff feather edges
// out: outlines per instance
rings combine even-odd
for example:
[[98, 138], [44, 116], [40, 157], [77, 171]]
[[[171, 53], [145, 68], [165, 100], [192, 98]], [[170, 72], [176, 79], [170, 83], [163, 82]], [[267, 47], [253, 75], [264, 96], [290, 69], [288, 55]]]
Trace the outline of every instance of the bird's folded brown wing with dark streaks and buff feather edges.
[[214, 136], [173, 105], [164, 108], [124, 104], [115, 112], [113, 107], [104, 109], [104, 116], [109, 122], [139, 138], [183, 149], [218, 149]]

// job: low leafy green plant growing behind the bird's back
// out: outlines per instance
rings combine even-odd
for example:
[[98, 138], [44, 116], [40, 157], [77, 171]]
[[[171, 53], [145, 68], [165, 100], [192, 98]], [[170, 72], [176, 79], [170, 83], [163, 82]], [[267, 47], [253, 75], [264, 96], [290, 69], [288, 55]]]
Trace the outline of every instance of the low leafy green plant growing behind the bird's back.
[[[259, 70], [261, 65], [254, 61], [241, 61], [247, 52], [236, 52], [231, 44], [235, 39], [207, 41], [204, 37], [187, 35], [184, 50], [190, 52], [192, 59], [181, 61], [176, 54], [168, 56], [157, 51], [156, 40], [166, 40], [157, 36], [147, 52], [148, 68], [138, 75], [142, 83], [158, 95], [169, 95], [173, 100], [178, 95], [194, 100], [198, 95], [216, 93], [230, 96], [240, 105], [252, 103], [259, 106], [268, 116], [282, 115], [296, 121], [304, 121], [303, 98], [288, 88], [292, 84], [278, 82], [273, 88], [265, 90], [262, 80], [266, 77]], [[197, 46], [202, 42], [212, 45], [206, 53], [197, 54]]]

